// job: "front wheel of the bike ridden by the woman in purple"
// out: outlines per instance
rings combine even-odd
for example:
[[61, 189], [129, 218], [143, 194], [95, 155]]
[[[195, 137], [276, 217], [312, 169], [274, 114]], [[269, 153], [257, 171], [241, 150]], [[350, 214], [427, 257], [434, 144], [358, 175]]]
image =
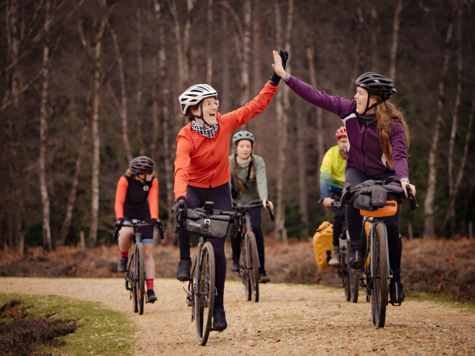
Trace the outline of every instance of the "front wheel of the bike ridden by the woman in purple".
[[378, 223], [373, 231], [374, 245], [372, 246], [371, 260], [372, 270], [372, 293], [371, 314], [373, 324], [378, 328], [384, 327], [386, 319], [386, 305], [388, 304], [388, 253], [386, 226]]

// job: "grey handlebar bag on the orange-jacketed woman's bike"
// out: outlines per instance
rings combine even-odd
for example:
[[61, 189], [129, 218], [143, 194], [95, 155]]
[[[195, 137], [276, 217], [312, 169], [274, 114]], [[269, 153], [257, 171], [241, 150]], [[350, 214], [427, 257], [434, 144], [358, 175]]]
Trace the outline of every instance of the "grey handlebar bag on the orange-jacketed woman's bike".
[[210, 214], [200, 208], [188, 209], [185, 229], [194, 235], [220, 238], [227, 235], [229, 226], [233, 221], [233, 218], [229, 215], [220, 215], [219, 210], [215, 210], [215, 213]]

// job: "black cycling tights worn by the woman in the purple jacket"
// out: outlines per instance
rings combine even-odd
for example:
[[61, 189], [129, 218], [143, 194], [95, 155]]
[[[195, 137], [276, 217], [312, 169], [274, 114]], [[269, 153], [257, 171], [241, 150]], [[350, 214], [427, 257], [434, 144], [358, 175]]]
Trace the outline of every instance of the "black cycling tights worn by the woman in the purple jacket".
[[[346, 167], [345, 169], [345, 184], [350, 183], [352, 187], [368, 180], [384, 180], [389, 176], [395, 176], [396, 173], [388, 172], [376, 176], [367, 176], [362, 171], [354, 167]], [[393, 278], [391, 281], [400, 282], [401, 270], [401, 254], [402, 254], [402, 240], [399, 234], [399, 219], [401, 217], [401, 205], [398, 204], [396, 215], [386, 218], [386, 228], [388, 231], [388, 251], [389, 251], [389, 266], [393, 271]], [[356, 209], [353, 204], [346, 205], [346, 222], [348, 232], [350, 233], [351, 241], [359, 241], [362, 217], [359, 209]]]

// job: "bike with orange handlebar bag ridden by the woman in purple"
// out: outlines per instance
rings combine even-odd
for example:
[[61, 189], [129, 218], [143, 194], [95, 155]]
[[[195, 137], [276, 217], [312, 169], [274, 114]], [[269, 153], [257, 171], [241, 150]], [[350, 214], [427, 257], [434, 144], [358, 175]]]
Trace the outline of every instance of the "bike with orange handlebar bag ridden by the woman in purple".
[[[405, 186], [411, 203], [411, 209], [415, 210], [418, 203], [411, 187]], [[345, 203], [353, 196], [356, 190], [351, 189], [347, 184], [342, 193], [339, 208], [343, 208]], [[392, 271], [389, 266], [388, 236], [385, 218], [394, 215], [398, 202], [396, 194], [388, 193], [386, 206], [375, 211], [360, 209], [363, 216], [361, 227], [361, 239], [365, 235], [364, 225], [369, 222], [369, 236], [366, 247], [366, 254], [363, 258], [363, 267], [355, 269], [359, 274], [359, 286], [366, 288], [366, 302], [371, 302], [372, 323], [378, 328], [383, 328], [386, 320], [386, 306], [388, 305], [389, 280], [392, 277]], [[403, 200], [404, 196], [402, 196]], [[388, 209], [387, 209], [388, 208]], [[389, 212], [392, 210], [394, 212]], [[365, 265], [369, 257], [369, 266]], [[352, 269], [352, 268], [350, 268]], [[391, 303], [392, 305], [396, 305]], [[398, 303], [397, 305], [401, 305]]]

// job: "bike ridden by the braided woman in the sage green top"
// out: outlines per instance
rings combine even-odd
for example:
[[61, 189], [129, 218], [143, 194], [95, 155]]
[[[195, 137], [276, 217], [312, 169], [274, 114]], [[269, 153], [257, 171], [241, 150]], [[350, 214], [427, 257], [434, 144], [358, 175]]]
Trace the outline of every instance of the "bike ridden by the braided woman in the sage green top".
[[[241, 230], [241, 253], [239, 256], [239, 271], [236, 273], [243, 278], [244, 291], [247, 300], [259, 301], [259, 254], [257, 252], [256, 236], [251, 226], [251, 209], [263, 207], [262, 203], [250, 205], [236, 205], [236, 220]], [[270, 219], [274, 220], [274, 211], [266, 203]], [[234, 208], [234, 207], [233, 207]]]

